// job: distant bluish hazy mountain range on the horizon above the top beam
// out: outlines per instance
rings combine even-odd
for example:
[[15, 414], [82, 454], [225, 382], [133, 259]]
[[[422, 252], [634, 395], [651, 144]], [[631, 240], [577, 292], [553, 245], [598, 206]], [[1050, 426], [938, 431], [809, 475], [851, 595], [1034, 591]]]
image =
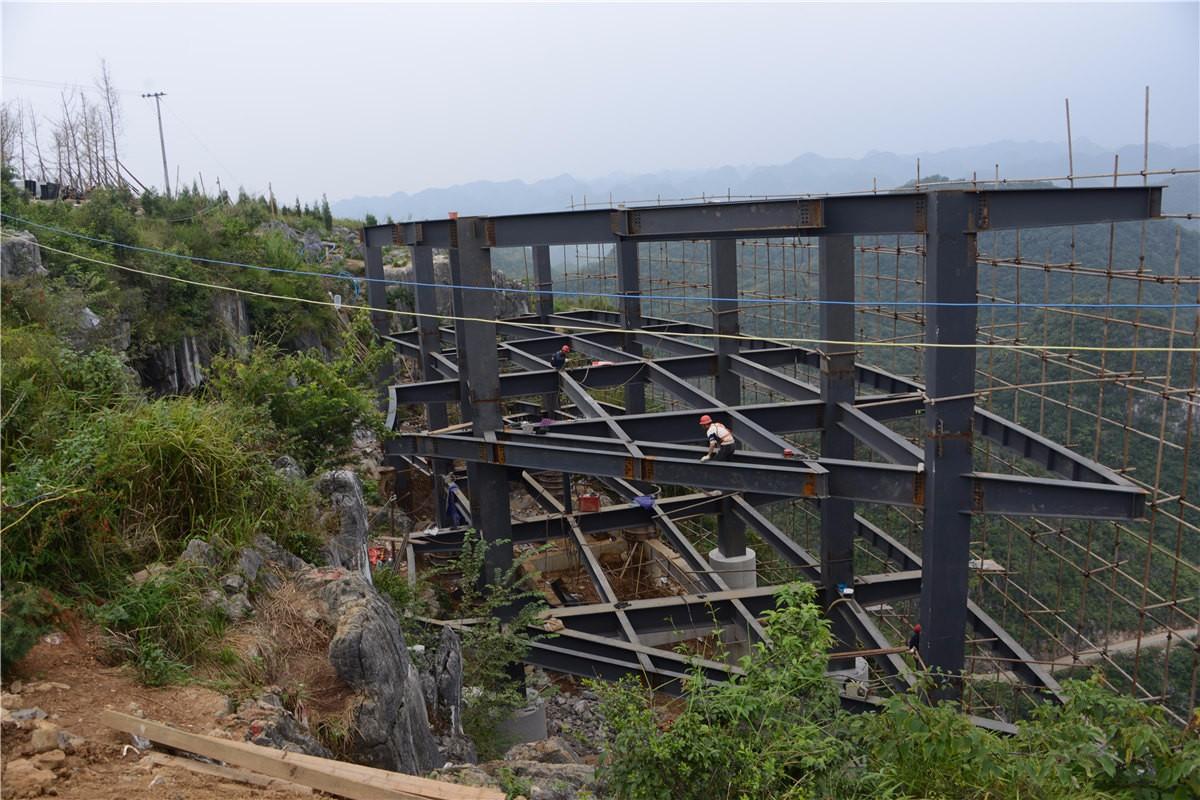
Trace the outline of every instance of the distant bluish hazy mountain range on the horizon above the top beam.
[[[1114, 155], [1120, 156], [1121, 172], [1141, 169], [1142, 146], [1126, 145], [1114, 154], [1086, 139], [1074, 143], [1075, 174], [1093, 175], [1112, 172]], [[427, 188], [409, 194], [396, 192], [388, 197], [350, 197], [332, 204], [336, 216], [364, 218], [373, 213], [380, 222], [388, 216], [396, 221], [444, 218], [448, 211], [461, 213], [526, 213], [558, 211], [576, 207], [587, 200], [588, 206], [635, 200], [674, 200], [732, 194], [797, 194], [870, 191], [894, 188], [917, 178], [920, 160], [922, 179], [940, 174], [947, 178], [986, 181], [1001, 178], [1055, 178], [1067, 173], [1066, 143], [996, 142], [971, 148], [955, 148], [940, 152], [898, 155], [870, 152], [862, 158], [827, 158], [804, 154], [786, 164], [719, 167], [715, 169], [666, 170], [644, 175], [612, 174], [581, 180], [558, 175], [526, 182], [475, 181], [442, 188]], [[1175, 148], [1151, 144], [1150, 169], [1196, 169], [1200, 167], [1200, 145]], [[1122, 179], [1132, 184], [1139, 179]], [[1169, 187], [1164, 193], [1168, 211], [1200, 209], [1200, 175], [1158, 175], [1151, 182]], [[1104, 185], [1088, 181], [1086, 185]]]

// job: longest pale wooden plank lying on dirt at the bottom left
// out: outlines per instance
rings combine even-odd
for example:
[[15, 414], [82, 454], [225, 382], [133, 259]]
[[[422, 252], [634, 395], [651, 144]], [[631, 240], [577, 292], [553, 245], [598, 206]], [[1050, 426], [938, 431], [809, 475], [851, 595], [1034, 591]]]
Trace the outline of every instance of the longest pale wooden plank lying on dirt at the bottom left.
[[101, 718], [104, 724], [116, 730], [350, 800], [503, 800], [504, 798], [503, 792], [494, 789], [432, 781], [329, 758], [260, 747], [245, 741], [202, 736], [118, 711], [104, 711]]

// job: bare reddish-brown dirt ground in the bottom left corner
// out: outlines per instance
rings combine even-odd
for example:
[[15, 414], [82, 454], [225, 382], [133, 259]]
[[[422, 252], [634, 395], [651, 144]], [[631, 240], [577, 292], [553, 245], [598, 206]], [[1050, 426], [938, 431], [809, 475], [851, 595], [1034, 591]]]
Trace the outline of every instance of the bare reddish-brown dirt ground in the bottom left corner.
[[[4, 708], [7, 712], [36, 706], [50, 723], [80, 740], [61, 750], [35, 745], [37, 722], [2, 723], [0, 753], [4, 776], [0, 796], [50, 794], [68, 800], [240, 800], [245, 798], [295, 798], [277, 789], [250, 787], [222, 778], [194, 775], [174, 766], [142, 760], [128, 736], [100, 722], [106, 709], [142, 714], [148, 718], [212, 735], [240, 739], [242, 732], [226, 727], [221, 715], [226, 698], [199, 686], [150, 688], [138, 684], [127, 667], [106, 667], [97, 660], [101, 649], [94, 632], [68, 637], [43, 637], [29, 656], [5, 675]], [[19, 688], [19, 692], [12, 690]], [[44, 739], [44, 735], [42, 735]], [[59, 742], [66, 740], [59, 738]], [[49, 778], [47, 774], [53, 775]]]

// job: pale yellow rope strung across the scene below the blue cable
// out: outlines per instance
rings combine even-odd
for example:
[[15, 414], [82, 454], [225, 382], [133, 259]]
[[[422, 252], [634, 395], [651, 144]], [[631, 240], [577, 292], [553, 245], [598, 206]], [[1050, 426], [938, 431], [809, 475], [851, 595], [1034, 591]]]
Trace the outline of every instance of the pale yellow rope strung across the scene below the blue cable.
[[[266, 300], [284, 300], [290, 302], [301, 302], [310, 306], [326, 306], [330, 308], [346, 308], [349, 311], [367, 311], [373, 313], [384, 314], [397, 314], [401, 317], [425, 317], [432, 319], [451, 319], [464, 323], [488, 323], [494, 325], [510, 325], [512, 327], [532, 327], [532, 329], [545, 329], [552, 333], [558, 333], [562, 330], [571, 330], [576, 333], [652, 333], [654, 336], [664, 337], [678, 337], [678, 338], [708, 338], [708, 339], [733, 339], [737, 342], [785, 342], [788, 344], [826, 344], [826, 345], [840, 345], [850, 348], [911, 348], [911, 349], [923, 349], [923, 348], [943, 348], [943, 349], [979, 349], [979, 350], [1037, 350], [1037, 351], [1064, 351], [1064, 353], [1200, 353], [1200, 347], [1120, 347], [1120, 345], [1098, 345], [1098, 344], [996, 344], [996, 343], [958, 343], [958, 342], [936, 342], [936, 343], [922, 343], [922, 344], [905, 344], [902, 342], [844, 342], [839, 339], [820, 339], [820, 338], [802, 338], [802, 337], [785, 337], [785, 336], [748, 336], [744, 333], [679, 333], [671, 331], [649, 331], [644, 329], [628, 329], [628, 327], [589, 327], [587, 325], [551, 325], [547, 323], [516, 323], [504, 319], [486, 319], [482, 317], [452, 317], [443, 314], [426, 314], [415, 311], [397, 311], [395, 308], [372, 308], [371, 306], [355, 306], [350, 303], [335, 303], [331, 300], [311, 300], [308, 297], [294, 297], [290, 295], [277, 295], [268, 291], [254, 291], [253, 289], [238, 289], [234, 287], [221, 285], [217, 283], [206, 283], [204, 281], [192, 281], [190, 278], [181, 278], [173, 275], [162, 275], [160, 272], [149, 272], [146, 270], [139, 270], [133, 266], [125, 266], [124, 264], [114, 264], [112, 261], [104, 261], [98, 258], [91, 258], [90, 255], [79, 255], [78, 253], [72, 253], [65, 249], [58, 249], [56, 247], [50, 247], [48, 245], [38, 243], [42, 249], [48, 249], [52, 253], [60, 253], [71, 258], [77, 258], [84, 261], [91, 261], [92, 264], [100, 264], [102, 266], [110, 266], [118, 270], [125, 270], [126, 272], [136, 272], [137, 275], [145, 275], [152, 278], [163, 278], [167, 281], [175, 281], [176, 283], [187, 283], [190, 285], [203, 287], [205, 289], [217, 289], [220, 291], [233, 291], [234, 294], [250, 295], [252, 297], [264, 297]], [[520, 294], [520, 290], [514, 290]]]

